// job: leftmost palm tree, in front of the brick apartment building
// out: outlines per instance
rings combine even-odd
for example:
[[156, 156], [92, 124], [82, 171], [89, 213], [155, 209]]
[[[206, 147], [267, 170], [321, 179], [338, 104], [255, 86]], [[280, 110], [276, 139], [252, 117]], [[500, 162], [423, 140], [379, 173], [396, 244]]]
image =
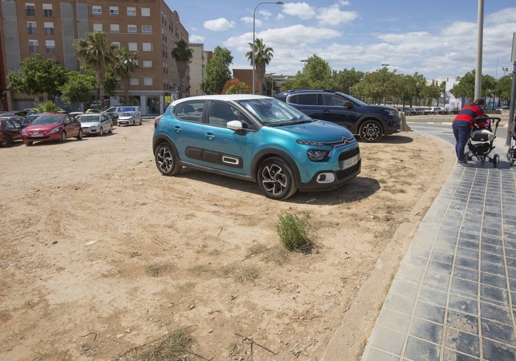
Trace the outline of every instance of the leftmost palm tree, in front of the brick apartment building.
[[108, 65], [112, 65], [115, 61], [113, 51], [117, 50], [118, 46], [111, 44], [108, 36], [103, 32], [90, 32], [87, 38], [75, 40], [75, 48], [77, 56], [95, 70], [95, 76], [99, 82], [100, 108], [104, 110], [104, 76]]

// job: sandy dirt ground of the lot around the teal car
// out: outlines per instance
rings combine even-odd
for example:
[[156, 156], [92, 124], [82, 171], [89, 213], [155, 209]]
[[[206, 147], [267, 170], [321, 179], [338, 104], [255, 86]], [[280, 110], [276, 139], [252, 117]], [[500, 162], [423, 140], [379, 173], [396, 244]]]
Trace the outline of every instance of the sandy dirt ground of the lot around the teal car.
[[[355, 180], [275, 201], [161, 176], [153, 130], [0, 148], [0, 360], [115, 360], [179, 329], [190, 360], [359, 359], [452, 146], [360, 143]], [[309, 253], [281, 246], [282, 212], [308, 217]]]

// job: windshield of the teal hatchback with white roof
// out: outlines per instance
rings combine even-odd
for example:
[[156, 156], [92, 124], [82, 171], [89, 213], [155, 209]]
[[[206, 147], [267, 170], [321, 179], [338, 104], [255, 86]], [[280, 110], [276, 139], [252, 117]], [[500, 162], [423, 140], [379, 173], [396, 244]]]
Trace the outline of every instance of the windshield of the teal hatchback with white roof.
[[306, 114], [277, 99], [248, 99], [237, 101], [264, 125], [290, 125], [313, 121]]

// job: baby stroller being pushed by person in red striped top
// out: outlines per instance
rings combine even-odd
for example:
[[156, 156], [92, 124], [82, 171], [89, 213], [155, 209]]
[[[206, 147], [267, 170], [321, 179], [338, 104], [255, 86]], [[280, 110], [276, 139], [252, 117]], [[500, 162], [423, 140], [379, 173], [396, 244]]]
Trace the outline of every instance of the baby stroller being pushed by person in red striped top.
[[[494, 116], [479, 116], [473, 119], [473, 131], [468, 140], [469, 151], [464, 154], [464, 163], [473, 161], [473, 157], [477, 161], [486, 161], [488, 159], [493, 163], [493, 167], [497, 168], [500, 157], [498, 154], [489, 156], [490, 152], [495, 149], [493, 142], [496, 138], [496, 131], [501, 119]], [[495, 130], [491, 130], [491, 125], [495, 124]]]

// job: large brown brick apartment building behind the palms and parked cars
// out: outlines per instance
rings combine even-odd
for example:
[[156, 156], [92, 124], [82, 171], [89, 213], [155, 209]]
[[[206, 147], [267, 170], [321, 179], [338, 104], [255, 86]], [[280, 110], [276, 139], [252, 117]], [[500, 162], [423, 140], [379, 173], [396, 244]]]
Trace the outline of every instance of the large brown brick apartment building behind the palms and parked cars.
[[[74, 41], [88, 32], [104, 32], [111, 43], [139, 52], [138, 69], [130, 79], [131, 102], [143, 114], [161, 114], [173, 99], [190, 95], [190, 75], [180, 79], [171, 56], [175, 42], [188, 32], [179, 14], [163, 0], [28, 0], [0, 1], [0, 92], [3, 109], [32, 107], [44, 95], [7, 90], [6, 74], [19, 70], [28, 56], [54, 57], [70, 70], [80, 70]], [[119, 85], [110, 105], [126, 102]]]

